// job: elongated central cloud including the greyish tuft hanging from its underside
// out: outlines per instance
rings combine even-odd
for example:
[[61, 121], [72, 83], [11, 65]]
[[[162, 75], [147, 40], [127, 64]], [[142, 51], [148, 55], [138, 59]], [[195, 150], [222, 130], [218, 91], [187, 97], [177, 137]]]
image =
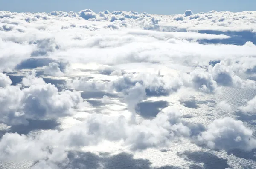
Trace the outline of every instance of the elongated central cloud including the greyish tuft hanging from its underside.
[[[113, 75], [113, 70], [100, 68], [103, 74]], [[167, 96], [176, 92], [183, 85], [177, 77], [160, 76], [159, 74], [140, 73], [140, 74], [123, 74], [112, 82], [101, 82], [90, 80], [86, 77], [68, 81], [68, 86], [81, 91], [100, 91], [120, 92], [127, 103], [130, 112], [135, 113], [137, 104], [147, 97]]]

